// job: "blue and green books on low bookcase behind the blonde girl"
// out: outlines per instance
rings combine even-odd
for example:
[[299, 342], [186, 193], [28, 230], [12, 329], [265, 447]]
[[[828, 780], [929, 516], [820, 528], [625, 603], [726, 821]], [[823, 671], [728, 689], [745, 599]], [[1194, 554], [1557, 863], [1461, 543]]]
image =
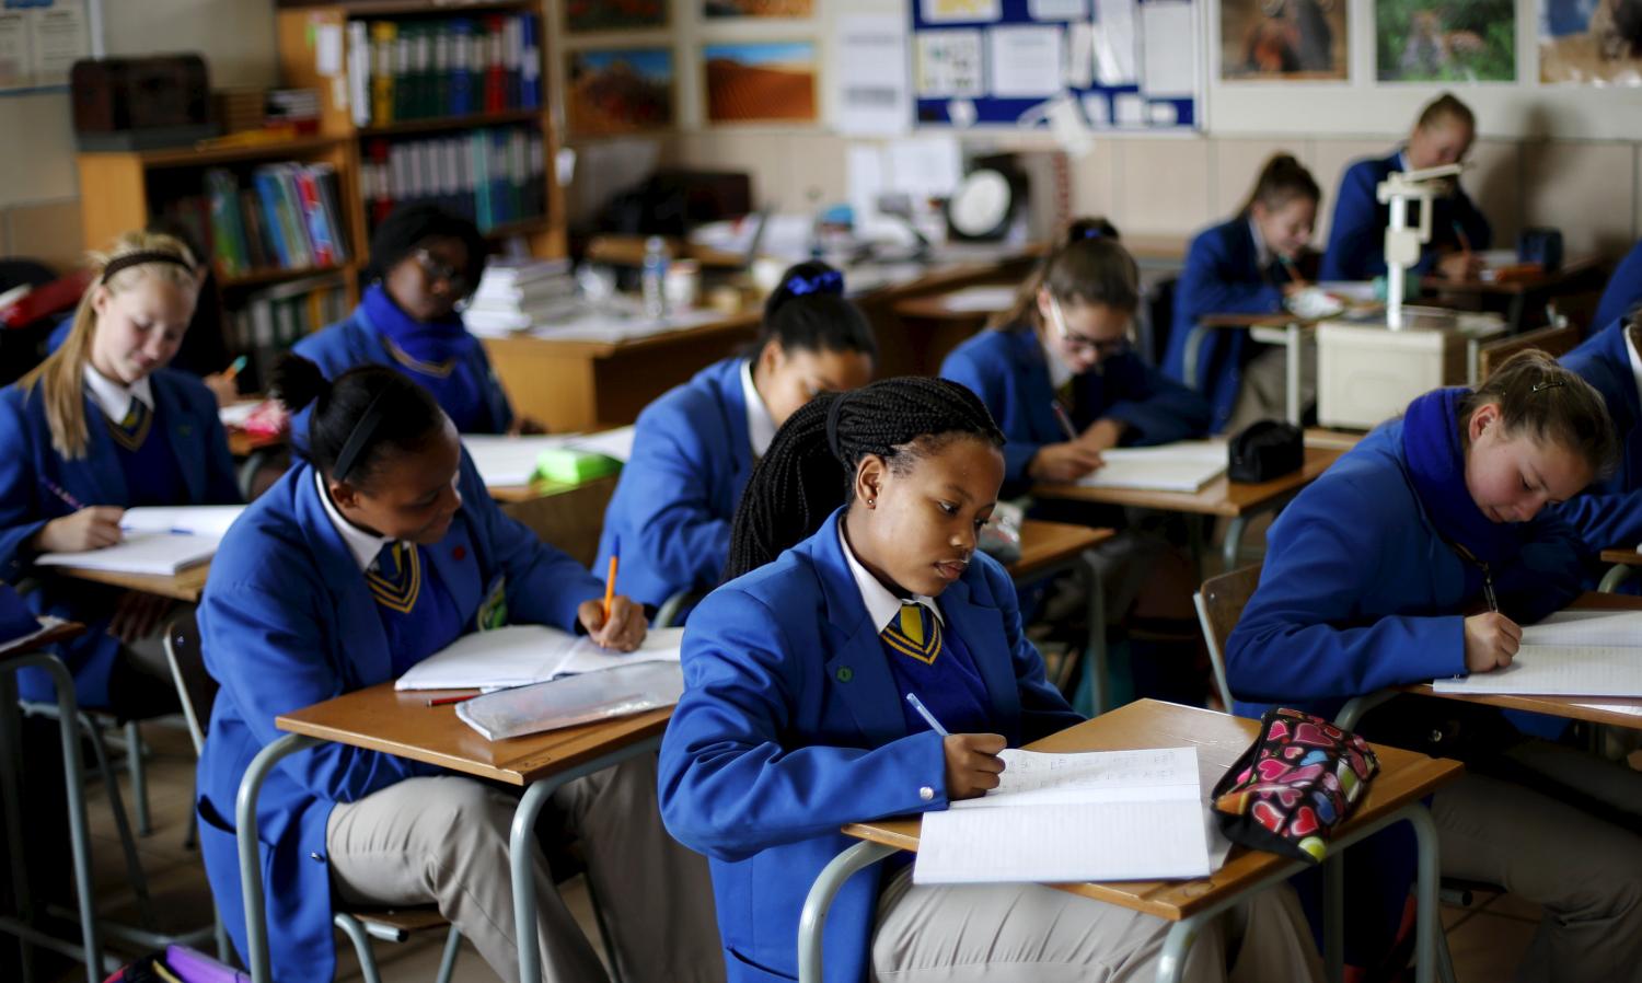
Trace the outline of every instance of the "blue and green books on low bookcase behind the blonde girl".
[[163, 212], [194, 233], [222, 276], [348, 261], [340, 184], [330, 164], [264, 164], [248, 184], [212, 167], [202, 195], [177, 199]]

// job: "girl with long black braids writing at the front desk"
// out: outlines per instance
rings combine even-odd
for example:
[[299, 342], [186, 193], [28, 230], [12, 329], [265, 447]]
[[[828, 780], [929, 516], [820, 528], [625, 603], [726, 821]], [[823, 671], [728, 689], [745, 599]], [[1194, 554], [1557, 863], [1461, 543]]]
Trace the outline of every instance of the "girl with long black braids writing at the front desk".
[[[975, 551], [1002, 446], [974, 394], [908, 376], [819, 395], [754, 469], [736, 579], [685, 632], [660, 778], [668, 830], [713, 862], [732, 981], [796, 976], [798, 912], [849, 844], [839, 825], [979, 796], [1002, 748], [1079, 720], [1044, 679], [1008, 574]], [[1248, 916], [1240, 978], [1317, 978], [1286, 888]], [[1164, 929], [1041, 885], [913, 886], [908, 868], [874, 866], [832, 904], [826, 978], [1151, 980]], [[1228, 949], [1212, 926], [1189, 978], [1222, 978]]]

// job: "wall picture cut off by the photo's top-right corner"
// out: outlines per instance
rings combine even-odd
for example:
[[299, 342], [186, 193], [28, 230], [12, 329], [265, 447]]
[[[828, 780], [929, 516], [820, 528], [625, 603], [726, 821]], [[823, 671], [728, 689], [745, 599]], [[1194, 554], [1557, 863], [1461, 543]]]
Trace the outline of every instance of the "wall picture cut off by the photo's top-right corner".
[[1642, 85], [1642, 0], [1543, 0], [1540, 82]]

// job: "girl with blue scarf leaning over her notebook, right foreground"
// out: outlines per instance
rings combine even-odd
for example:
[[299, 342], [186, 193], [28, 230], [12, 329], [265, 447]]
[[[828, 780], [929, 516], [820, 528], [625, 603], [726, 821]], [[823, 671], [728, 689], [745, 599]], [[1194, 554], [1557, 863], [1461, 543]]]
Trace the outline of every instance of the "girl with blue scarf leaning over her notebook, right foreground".
[[[1580, 591], [1578, 543], [1542, 510], [1604, 473], [1614, 443], [1601, 395], [1540, 351], [1410, 402], [1273, 524], [1227, 643], [1238, 712], [1333, 716], [1351, 696], [1509, 666], [1520, 625]], [[1517, 980], [1642, 978], [1642, 775], [1496, 714], [1404, 696], [1363, 729], [1466, 760], [1432, 799], [1442, 871], [1543, 906]]]

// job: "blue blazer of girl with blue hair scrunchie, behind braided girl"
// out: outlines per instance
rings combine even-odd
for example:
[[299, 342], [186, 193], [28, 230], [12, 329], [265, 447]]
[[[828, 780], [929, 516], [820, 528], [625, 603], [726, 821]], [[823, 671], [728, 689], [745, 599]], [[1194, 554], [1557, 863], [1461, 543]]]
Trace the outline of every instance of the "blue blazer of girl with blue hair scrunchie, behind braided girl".
[[604, 510], [599, 556], [621, 553], [622, 591], [662, 604], [680, 591], [706, 594], [729, 558], [736, 502], [752, 474], [744, 358], [726, 358], [644, 407], [632, 458]]

